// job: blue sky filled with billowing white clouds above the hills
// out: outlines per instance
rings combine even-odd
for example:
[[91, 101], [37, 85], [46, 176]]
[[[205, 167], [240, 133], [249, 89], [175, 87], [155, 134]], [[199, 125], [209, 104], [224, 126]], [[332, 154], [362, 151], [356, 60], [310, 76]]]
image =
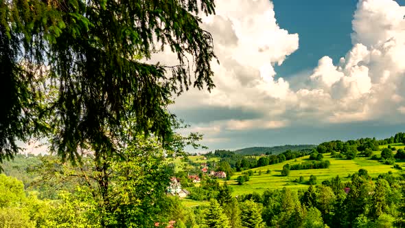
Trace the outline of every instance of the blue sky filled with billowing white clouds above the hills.
[[[405, 127], [405, 5], [218, 0], [204, 16], [216, 88], [170, 111], [209, 150], [384, 138]], [[241, 10], [243, 9], [243, 10]], [[153, 59], [153, 58], [152, 58]], [[170, 62], [170, 53], [154, 60]]]

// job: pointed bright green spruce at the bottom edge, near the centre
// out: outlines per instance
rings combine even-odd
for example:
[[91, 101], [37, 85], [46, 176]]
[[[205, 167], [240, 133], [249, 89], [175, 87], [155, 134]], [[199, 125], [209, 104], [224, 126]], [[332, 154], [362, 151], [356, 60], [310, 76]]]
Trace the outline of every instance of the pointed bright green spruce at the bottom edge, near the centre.
[[205, 211], [204, 223], [206, 228], [229, 228], [228, 218], [216, 200], [211, 200]]

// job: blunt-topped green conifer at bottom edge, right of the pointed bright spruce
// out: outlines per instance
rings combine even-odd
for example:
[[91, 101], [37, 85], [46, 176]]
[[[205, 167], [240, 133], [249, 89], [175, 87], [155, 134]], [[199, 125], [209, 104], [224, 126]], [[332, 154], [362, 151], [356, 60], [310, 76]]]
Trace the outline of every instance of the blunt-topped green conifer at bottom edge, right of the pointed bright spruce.
[[242, 204], [242, 225], [248, 228], [262, 228], [262, 207], [254, 201], [245, 201]]

